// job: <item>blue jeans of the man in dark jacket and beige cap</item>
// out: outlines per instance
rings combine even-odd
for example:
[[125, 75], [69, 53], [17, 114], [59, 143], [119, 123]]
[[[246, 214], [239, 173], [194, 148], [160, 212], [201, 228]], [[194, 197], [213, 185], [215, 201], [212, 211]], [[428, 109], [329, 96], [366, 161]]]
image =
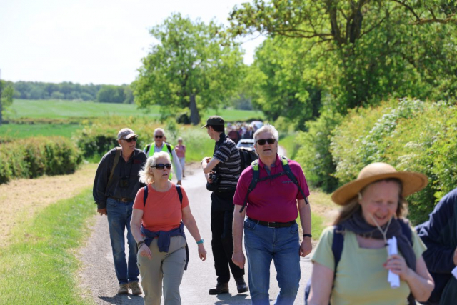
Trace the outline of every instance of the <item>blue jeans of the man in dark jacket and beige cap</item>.
[[[109, 238], [113, 250], [114, 269], [119, 284], [138, 281], [140, 271], [136, 266], [136, 241], [130, 230], [131, 211], [134, 202], [122, 202], [109, 198], [106, 200], [108, 214]], [[129, 263], [126, 261], [124, 231], [127, 228], [127, 243], [129, 244]]]

